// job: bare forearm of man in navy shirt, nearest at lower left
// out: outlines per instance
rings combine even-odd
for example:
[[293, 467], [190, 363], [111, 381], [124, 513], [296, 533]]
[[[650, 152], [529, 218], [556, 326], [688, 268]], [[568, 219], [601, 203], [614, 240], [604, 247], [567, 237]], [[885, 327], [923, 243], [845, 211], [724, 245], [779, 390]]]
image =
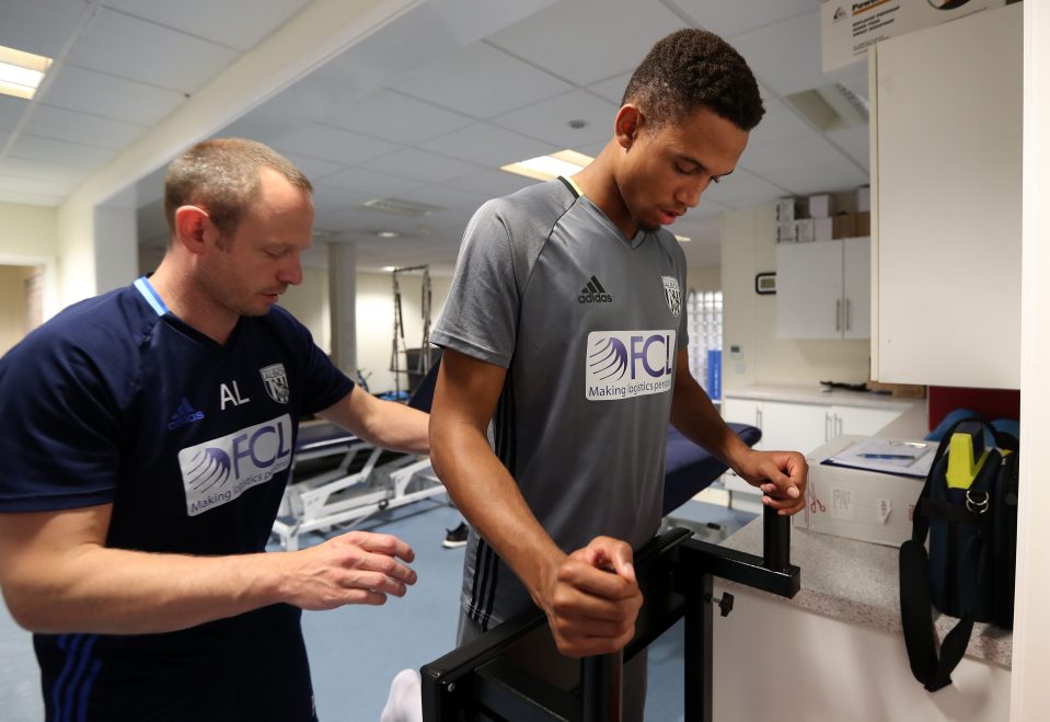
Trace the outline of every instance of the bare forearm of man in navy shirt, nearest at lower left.
[[4, 597], [35, 632], [141, 634], [186, 629], [288, 598], [290, 553], [159, 554], [83, 545], [12, 561]]

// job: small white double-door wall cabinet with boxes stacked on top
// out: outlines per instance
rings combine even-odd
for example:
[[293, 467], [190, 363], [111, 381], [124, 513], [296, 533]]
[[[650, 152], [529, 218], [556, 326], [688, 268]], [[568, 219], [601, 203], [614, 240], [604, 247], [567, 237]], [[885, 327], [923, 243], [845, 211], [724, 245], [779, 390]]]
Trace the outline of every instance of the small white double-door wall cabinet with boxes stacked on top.
[[870, 239], [777, 243], [777, 337], [867, 339], [870, 303]]

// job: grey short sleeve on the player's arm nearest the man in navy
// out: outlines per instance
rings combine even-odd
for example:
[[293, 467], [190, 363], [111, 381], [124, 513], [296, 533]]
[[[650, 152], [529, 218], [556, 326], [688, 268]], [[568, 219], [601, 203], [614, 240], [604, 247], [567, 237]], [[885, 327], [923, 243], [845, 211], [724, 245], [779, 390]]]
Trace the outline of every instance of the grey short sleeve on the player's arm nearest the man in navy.
[[486, 203], [466, 227], [430, 341], [507, 368], [514, 357], [520, 291], [511, 239], [497, 208], [497, 202]]

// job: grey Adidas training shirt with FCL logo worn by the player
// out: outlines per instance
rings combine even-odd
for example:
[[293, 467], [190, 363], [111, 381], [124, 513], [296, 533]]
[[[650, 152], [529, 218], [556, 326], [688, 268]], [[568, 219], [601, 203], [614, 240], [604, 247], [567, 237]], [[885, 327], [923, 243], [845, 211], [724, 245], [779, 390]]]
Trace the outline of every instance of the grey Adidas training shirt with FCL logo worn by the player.
[[[624, 238], [564, 179], [489, 200], [466, 228], [430, 340], [508, 369], [495, 451], [566, 552], [657, 531], [684, 284], [670, 232]], [[462, 603], [483, 629], [531, 605], [473, 531]]]

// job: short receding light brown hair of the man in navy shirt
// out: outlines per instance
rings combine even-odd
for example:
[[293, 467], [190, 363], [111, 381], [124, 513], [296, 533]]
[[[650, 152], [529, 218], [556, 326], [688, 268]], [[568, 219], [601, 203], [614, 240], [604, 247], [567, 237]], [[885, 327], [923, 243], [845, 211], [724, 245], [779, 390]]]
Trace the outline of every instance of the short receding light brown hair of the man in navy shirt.
[[269, 168], [307, 193], [305, 174], [287, 158], [261, 142], [244, 138], [204, 140], [172, 161], [164, 177], [164, 216], [175, 232], [180, 206], [203, 206], [223, 238], [236, 230], [247, 207], [258, 197], [259, 171]]

